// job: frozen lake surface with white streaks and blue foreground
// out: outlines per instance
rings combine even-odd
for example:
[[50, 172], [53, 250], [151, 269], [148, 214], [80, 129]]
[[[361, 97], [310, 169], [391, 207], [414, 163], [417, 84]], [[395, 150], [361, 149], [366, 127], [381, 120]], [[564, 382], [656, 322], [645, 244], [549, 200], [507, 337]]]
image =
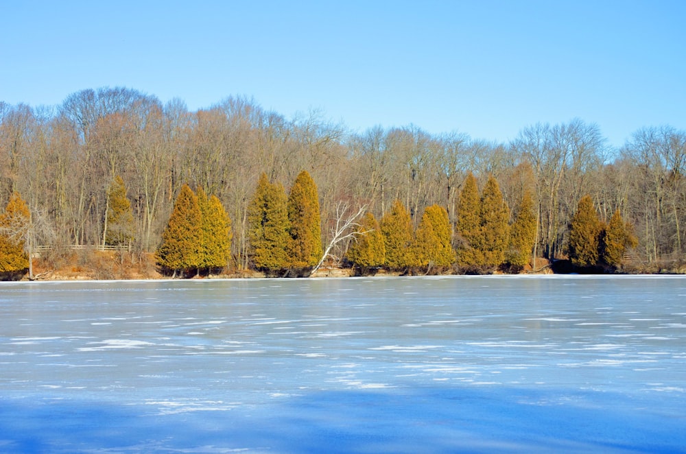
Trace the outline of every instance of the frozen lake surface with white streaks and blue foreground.
[[0, 451], [686, 452], [686, 278], [1, 283]]

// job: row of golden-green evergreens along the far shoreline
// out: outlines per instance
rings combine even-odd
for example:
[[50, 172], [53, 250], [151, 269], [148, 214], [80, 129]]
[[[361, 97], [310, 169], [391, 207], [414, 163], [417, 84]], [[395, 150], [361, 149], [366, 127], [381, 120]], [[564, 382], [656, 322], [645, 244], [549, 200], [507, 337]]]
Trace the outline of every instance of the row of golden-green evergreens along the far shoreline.
[[[108, 198], [106, 241], [130, 243], [133, 216], [121, 178], [113, 181]], [[289, 195], [283, 185], [261, 175], [248, 206], [251, 267], [268, 276], [307, 276], [327, 259], [337, 238], [349, 240], [344, 259], [359, 274], [381, 267], [413, 274], [519, 272], [535, 260], [532, 250], [537, 226], [530, 194], [523, 195], [510, 224], [510, 210], [493, 176], [480, 195], [475, 177], [468, 174], [460, 191], [455, 226], [445, 208], [434, 204], [425, 208], [415, 229], [407, 208], [395, 200], [381, 222], [368, 211], [357, 222], [363, 209], [348, 216], [347, 222], [338, 222], [325, 252], [318, 198], [316, 184], [305, 170], [298, 174]], [[25, 247], [30, 226], [29, 209], [19, 193], [14, 193], [0, 215], [0, 273], [20, 272], [30, 266], [31, 251]], [[232, 237], [231, 220], [220, 200], [215, 195], [208, 197], [202, 187], [193, 192], [184, 184], [162, 233], [156, 262], [172, 277], [223, 270], [231, 258]], [[569, 232], [573, 265], [617, 269], [626, 249], [635, 247], [636, 241], [632, 226], [623, 221], [619, 211], [605, 225], [589, 195], [579, 201]]]

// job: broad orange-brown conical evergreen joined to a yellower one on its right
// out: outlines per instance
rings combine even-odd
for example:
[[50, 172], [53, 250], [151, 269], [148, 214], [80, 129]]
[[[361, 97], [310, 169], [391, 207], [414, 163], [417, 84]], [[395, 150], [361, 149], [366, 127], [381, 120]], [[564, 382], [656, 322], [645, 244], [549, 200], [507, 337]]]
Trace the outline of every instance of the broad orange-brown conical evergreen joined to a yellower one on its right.
[[179, 271], [198, 269], [202, 265], [202, 213], [198, 197], [187, 184], [174, 202], [167, 228], [162, 233], [162, 244], [157, 250], [157, 263], [167, 270]]

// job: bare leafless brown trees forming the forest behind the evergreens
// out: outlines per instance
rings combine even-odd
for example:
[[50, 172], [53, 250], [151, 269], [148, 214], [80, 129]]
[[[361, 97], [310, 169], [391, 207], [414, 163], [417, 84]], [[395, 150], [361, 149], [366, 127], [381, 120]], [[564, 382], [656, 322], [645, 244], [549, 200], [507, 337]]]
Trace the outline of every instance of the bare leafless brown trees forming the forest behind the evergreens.
[[[117, 243], [134, 253], [157, 252], [187, 184], [220, 201], [232, 221], [228, 266], [242, 270], [259, 268], [260, 254], [267, 254], [259, 252], [267, 246], [259, 246], [250, 231], [261, 175], [292, 192], [306, 170], [318, 189], [318, 247], [331, 246], [329, 256], [342, 262], [359, 253], [359, 243], [383, 230], [369, 227], [370, 217], [380, 222], [398, 203], [409, 215], [412, 241], [429, 237], [425, 226], [419, 227], [425, 217], [440, 217], [431, 208], [438, 206], [449, 221], [454, 261], [468, 269], [479, 261], [492, 267], [500, 252], [484, 250], [469, 258], [465, 244], [505, 241], [495, 230], [493, 238], [471, 238], [467, 224], [474, 226], [475, 220], [460, 214], [465, 190], [464, 198], [475, 200], [467, 187], [477, 186], [482, 203], [493, 193], [487, 188], [492, 177], [504, 210], [488, 214], [508, 218], [509, 261], [502, 263], [514, 260], [510, 243], [525, 198], [535, 224], [532, 251], [525, 255], [571, 257], [573, 217], [589, 195], [602, 224], [609, 226], [619, 213], [633, 226], [632, 263], [659, 270], [684, 259], [685, 150], [686, 133], [670, 126], [641, 128], [619, 149], [608, 146], [597, 125], [580, 119], [527, 126], [509, 143], [495, 143], [458, 132], [429, 134], [416, 126], [351, 132], [318, 112], [286, 119], [241, 97], [191, 112], [179, 99], [163, 104], [128, 88], [100, 88], [73, 93], [52, 107], [0, 102], [0, 206], [21, 194], [36, 245], [59, 250]], [[110, 219], [113, 210], [121, 210], [117, 178], [130, 204], [127, 222]], [[361, 213], [354, 224], [368, 226], [362, 231], [370, 233], [346, 233], [339, 235], [344, 241], [332, 243], [340, 233], [337, 223], [363, 206], [369, 215]], [[394, 252], [386, 250], [387, 261], [389, 253]], [[603, 262], [602, 252], [599, 257]]]

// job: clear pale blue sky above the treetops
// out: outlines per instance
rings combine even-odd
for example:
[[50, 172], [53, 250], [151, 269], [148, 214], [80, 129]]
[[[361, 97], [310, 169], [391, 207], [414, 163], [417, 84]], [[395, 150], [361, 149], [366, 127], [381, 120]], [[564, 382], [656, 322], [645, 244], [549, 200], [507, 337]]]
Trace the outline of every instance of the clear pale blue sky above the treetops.
[[0, 101], [126, 86], [252, 97], [362, 132], [508, 141], [536, 122], [686, 129], [686, 1], [0, 0]]

